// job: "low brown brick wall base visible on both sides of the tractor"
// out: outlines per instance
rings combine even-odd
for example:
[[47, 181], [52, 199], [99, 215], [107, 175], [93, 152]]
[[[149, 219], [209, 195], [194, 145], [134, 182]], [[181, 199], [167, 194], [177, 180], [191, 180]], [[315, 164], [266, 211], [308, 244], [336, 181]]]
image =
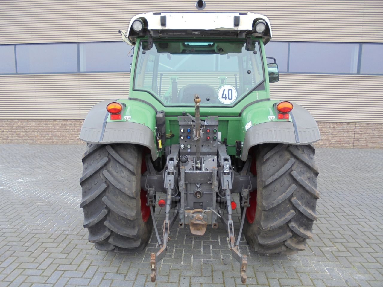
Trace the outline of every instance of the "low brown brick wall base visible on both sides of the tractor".
[[[78, 139], [83, 120], [0, 120], [0, 143], [69, 143]], [[318, 122], [316, 147], [383, 148], [383, 124]]]

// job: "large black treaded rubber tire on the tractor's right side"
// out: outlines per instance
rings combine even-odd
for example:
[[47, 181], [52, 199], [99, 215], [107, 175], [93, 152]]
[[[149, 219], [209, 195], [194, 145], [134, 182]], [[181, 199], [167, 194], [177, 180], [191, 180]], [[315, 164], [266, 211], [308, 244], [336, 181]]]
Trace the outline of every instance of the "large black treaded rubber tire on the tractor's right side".
[[294, 254], [306, 248], [317, 220], [318, 168], [312, 145], [264, 144], [255, 153], [257, 209], [244, 235], [259, 253]]

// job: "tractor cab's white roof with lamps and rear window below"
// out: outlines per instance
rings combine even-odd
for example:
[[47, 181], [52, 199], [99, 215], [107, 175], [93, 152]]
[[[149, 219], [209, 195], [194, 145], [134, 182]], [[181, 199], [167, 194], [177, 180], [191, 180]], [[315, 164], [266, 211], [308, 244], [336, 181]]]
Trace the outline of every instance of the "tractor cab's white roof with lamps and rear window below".
[[[265, 90], [267, 17], [254, 13], [146, 13], [120, 31], [135, 45], [133, 90], [164, 106], [232, 107]], [[266, 76], [265, 76], [266, 75]]]

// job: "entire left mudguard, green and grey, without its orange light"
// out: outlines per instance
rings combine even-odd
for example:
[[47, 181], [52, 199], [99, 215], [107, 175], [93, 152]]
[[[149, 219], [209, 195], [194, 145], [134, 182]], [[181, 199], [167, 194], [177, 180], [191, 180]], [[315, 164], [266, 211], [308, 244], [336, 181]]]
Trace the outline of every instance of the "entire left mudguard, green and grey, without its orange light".
[[[122, 119], [110, 120], [106, 106], [117, 101], [123, 104]], [[80, 140], [90, 143], [136, 143], [151, 150], [152, 159], [158, 157], [155, 143], [156, 111], [139, 101], [112, 99], [95, 104], [90, 109], [80, 132]]]

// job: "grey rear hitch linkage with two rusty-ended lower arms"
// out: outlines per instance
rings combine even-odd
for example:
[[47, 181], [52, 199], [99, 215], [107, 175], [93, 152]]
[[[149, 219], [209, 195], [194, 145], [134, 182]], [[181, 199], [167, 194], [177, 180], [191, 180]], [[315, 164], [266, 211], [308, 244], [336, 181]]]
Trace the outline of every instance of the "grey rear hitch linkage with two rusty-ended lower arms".
[[[219, 217], [227, 227], [229, 248], [233, 258], [241, 264], [241, 281], [245, 283], [247, 278], [247, 259], [246, 255], [242, 255], [239, 251], [238, 245], [247, 209], [248, 190], [252, 186], [254, 177], [250, 178], [246, 173], [249, 161], [245, 165], [245, 172], [234, 174], [230, 157], [226, 153], [226, 147], [219, 145], [217, 141], [210, 141], [210, 133], [212, 131], [215, 133], [217, 130], [218, 117], [206, 117], [205, 120], [201, 120], [201, 99], [198, 95], [195, 95], [194, 102], [195, 117], [190, 114], [178, 117], [181, 133], [180, 144], [172, 145], [171, 151], [167, 156], [167, 163], [163, 174], [166, 206], [162, 237], [159, 235], [155, 224], [154, 201], [152, 200], [154, 192], [152, 192], [151, 188], [148, 188], [148, 204], [150, 205], [154, 222], [155, 235], [160, 246], [160, 250], [157, 253], [151, 253], [150, 256], [151, 280], [155, 282], [157, 278], [157, 263], [165, 256], [170, 228], [172, 228], [177, 217], [180, 220], [179, 228], [184, 228], [185, 224], [189, 224], [190, 232], [193, 235], [204, 235], [207, 226], [210, 224], [213, 228], [217, 228], [218, 223], [216, 220]], [[185, 143], [188, 146], [186, 150]], [[151, 163], [148, 161], [147, 165], [150, 166]], [[152, 170], [151, 176], [155, 178], [154, 170], [152, 168], [149, 168], [149, 170]], [[218, 179], [220, 179], [220, 182]], [[244, 207], [244, 212], [237, 242], [232, 220], [231, 192], [241, 192], [241, 189], [238, 187], [233, 189], [233, 180], [236, 180], [237, 186], [248, 186], [248, 189], [242, 188], [241, 205]], [[145, 184], [148, 184], [148, 182], [146, 181]], [[218, 198], [217, 194], [219, 194], [219, 191], [222, 195], [219, 195]], [[175, 212], [170, 218], [170, 209], [172, 206], [174, 208], [175, 202], [177, 207], [175, 207]], [[221, 205], [217, 212], [218, 202]], [[226, 209], [228, 219], [224, 217], [222, 209]]]

